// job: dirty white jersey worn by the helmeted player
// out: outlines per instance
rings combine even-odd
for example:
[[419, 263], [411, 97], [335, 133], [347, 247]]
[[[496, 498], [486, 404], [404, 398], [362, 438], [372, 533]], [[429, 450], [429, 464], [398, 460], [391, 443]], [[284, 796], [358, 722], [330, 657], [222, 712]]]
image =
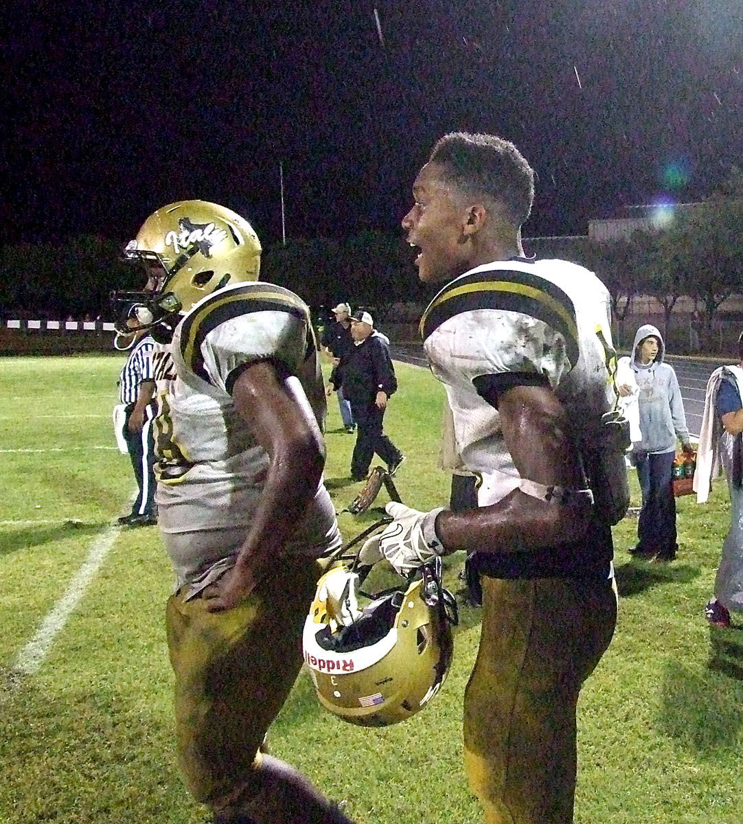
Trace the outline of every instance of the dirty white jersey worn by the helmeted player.
[[[269, 468], [232, 402], [241, 369], [269, 360], [296, 376], [320, 427], [325, 392], [308, 307], [269, 283], [238, 283], [196, 304], [175, 330], [171, 357], [176, 377], [157, 418], [158, 522], [180, 583], [203, 582], [239, 548]], [[320, 484], [287, 549], [322, 555], [339, 541]]]

